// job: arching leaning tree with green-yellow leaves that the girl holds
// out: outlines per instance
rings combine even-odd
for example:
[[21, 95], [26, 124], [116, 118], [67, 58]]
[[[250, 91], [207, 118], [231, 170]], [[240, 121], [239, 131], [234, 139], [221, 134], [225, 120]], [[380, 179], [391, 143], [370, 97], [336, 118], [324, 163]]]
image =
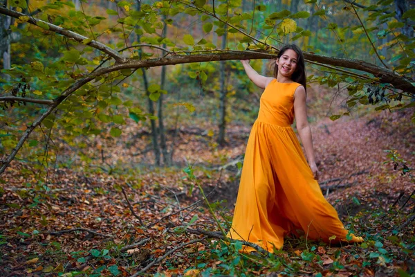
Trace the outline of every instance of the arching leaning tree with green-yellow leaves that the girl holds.
[[[314, 3], [316, 0], [309, 1]], [[383, 6], [387, 6], [387, 1], [383, 1]], [[229, 5], [228, 5], [229, 4]], [[268, 59], [275, 57], [278, 47], [272, 46], [269, 41], [279, 41], [284, 37], [290, 37], [290, 40], [308, 37], [310, 32], [297, 26], [295, 20], [308, 18], [309, 12], [300, 11], [292, 14], [288, 10], [273, 12], [265, 17], [263, 26], [267, 33], [259, 30], [259, 37], [253, 37], [248, 30], [253, 28], [253, 13], [241, 13], [239, 7], [240, 1], [231, 0], [228, 4], [222, 3], [219, 6], [211, 6], [205, 1], [159, 1], [153, 6], [143, 5], [142, 11], [130, 10], [131, 3], [118, 2], [117, 10], [107, 10], [109, 15], [118, 17], [118, 26], [109, 27], [108, 33], [119, 34], [121, 39], [116, 46], [104, 44], [94, 39], [102, 35], [93, 31], [93, 27], [100, 26], [104, 19], [101, 16], [89, 16], [82, 11], [73, 10], [71, 1], [57, 2], [46, 4], [43, 12], [39, 17], [25, 15], [24, 13], [0, 8], [0, 14], [10, 18], [19, 19], [26, 22], [27, 26], [32, 27], [31, 35], [38, 37], [53, 37], [56, 40], [60, 51], [59, 57], [44, 66], [41, 62], [33, 61], [30, 64], [21, 64], [13, 69], [3, 71], [12, 76], [10, 84], [3, 86], [3, 93], [0, 101], [3, 108], [8, 109], [10, 106], [16, 107], [18, 104], [36, 103], [44, 105], [42, 109], [37, 109], [34, 105], [33, 115], [39, 114], [37, 118], [29, 120], [27, 129], [24, 132], [15, 132], [8, 134], [2, 132], [0, 135], [5, 138], [10, 145], [10, 152], [4, 153], [6, 158], [1, 161], [0, 173], [4, 172], [12, 159], [16, 157], [17, 152], [23, 147], [30, 134], [39, 127], [44, 125], [50, 132], [56, 126], [62, 126], [73, 136], [77, 134], [99, 134], [100, 129], [96, 120], [104, 123], [122, 124], [124, 120], [120, 118], [119, 106], [124, 105], [129, 109], [129, 114], [133, 114], [138, 120], [149, 117], [140, 109], [130, 107], [127, 102], [122, 102], [116, 93], [120, 93], [118, 84], [125, 78], [128, 78], [135, 69], [145, 69], [154, 66], [165, 66], [168, 64], [184, 64], [192, 62], [214, 62], [224, 60], [241, 60], [241, 59]], [[20, 2], [13, 2], [17, 8], [23, 8]], [[20, 5], [20, 6], [19, 6]], [[227, 17], [228, 6], [232, 9], [232, 17]], [[57, 10], [59, 8], [68, 8], [68, 15], [55, 15], [50, 17], [48, 10]], [[120, 12], [122, 10], [122, 12]], [[264, 5], [255, 7], [257, 12], [266, 10]], [[349, 6], [349, 10], [353, 10]], [[225, 29], [228, 33], [234, 34], [236, 43], [230, 45], [228, 50], [218, 50], [211, 42], [206, 39], [195, 41], [194, 37], [187, 35], [185, 44], [190, 45], [190, 49], [183, 44], [175, 44], [166, 37], [157, 37], [154, 35], [156, 30], [163, 29], [161, 15], [178, 15], [185, 12], [190, 15], [201, 15], [203, 20], [212, 21], [218, 28], [215, 32], [222, 36]], [[316, 16], [324, 15], [324, 12], [317, 10]], [[77, 15], [83, 15], [82, 20]], [[382, 16], [382, 12], [372, 15], [371, 20]], [[414, 10], [407, 10], [402, 18], [414, 19]], [[387, 18], [387, 21], [390, 18]], [[53, 23], [50, 23], [53, 22]], [[167, 24], [171, 24], [172, 18], [168, 19]], [[210, 23], [210, 22], [208, 22]], [[210, 33], [212, 24], [206, 23], [203, 30]], [[400, 22], [388, 22], [388, 30], [385, 33], [396, 33], [401, 28]], [[146, 35], [142, 37], [142, 44], [127, 45], [127, 37], [136, 26], [142, 27]], [[37, 26], [37, 27], [33, 27]], [[345, 30], [339, 30], [335, 23], [330, 23], [327, 27], [329, 32], [334, 32], [340, 38]], [[363, 26], [356, 27], [363, 29]], [[70, 30], [71, 29], [71, 30]], [[257, 30], [259, 28], [256, 28]], [[378, 29], [371, 27], [366, 28], [366, 33], [376, 33]], [[21, 35], [28, 32], [28, 27], [21, 30]], [[105, 32], [104, 32], [105, 33]], [[357, 33], [357, 32], [356, 32]], [[354, 35], [354, 34], [353, 34]], [[358, 34], [362, 35], [362, 33]], [[367, 34], [369, 37], [369, 34]], [[373, 35], [373, 34], [372, 34]], [[381, 34], [376, 34], [377, 37]], [[362, 104], [377, 104], [376, 109], [400, 109], [412, 107], [413, 102], [401, 102], [403, 99], [415, 98], [414, 80], [410, 77], [413, 69], [414, 38], [407, 37], [403, 34], [396, 36], [396, 47], [391, 57], [385, 57], [390, 64], [395, 64], [393, 69], [389, 66], [378, 66], [365, 60], [354, 60], [351, 58], [329, 57], [326, 55], [317, 55], [315, 53], [304, 52], [304, 57], [309, 64], [321, 66], [327, 73], [315, 78], [312, 81], [320, 84], [328, 84], [334, 87], [340, 82], [347, 84], [349, 91], [349, 107], [353, 107], [358, 102]], [[405, 46], [399, 44], [400, 40], [408, 42]], [[364, 42], [365, 45], [368, 42]], [[165, 46], [163, 45], [165, 44]], [[163, 46], [164, 47], [163, 47]], [[64, 47], [62, 47], [64, 46]], [[399, 47], [402, 46], [402, 49]], [[152, 57], [154, 52], [142, 51], [142, 56], [138, 57], [134, 53], [127, 56], [124, 54], [127, 49], [144, 47], [149, 49], [161, 49], [165, 51], [162, 57]], [[168, 48], [166, 48], [168, 47]], [[116, 50], [116, 48], [118, 50]], [[100, 51], [99, 55], [95, 51]], [[372, 56], [379, 56], [376, 48]], [[380, 57], [380, 60], [382, 58]], [[68, 70], [68, 68], [73, 70]], [[54, 75], [54, 73], [60, 75]], [[40, 90], [26, 89], [21, 91], [22, 87], [30, 84], [31, 78], [41, 80], [36, 82], [37, 86], [42, 86], [45, 93]], [[208, 76], [203, 71], [196, 74], [196, 78], [205, 81]], [[2, 81], [6, 82], [6, 81]], [[163, 89], [153, 89], [150, 91], [150, 98], [160, 95]], [[385, 92], [386, 91], [386, 92]], [[13, 94], [12, 92], [15, 92]], [[39, 98], [39, 96], [46, 96]], [[95, 104], [94, 104], [95, 103]], [[85, 107], [85, 105], [88, 106]], [[82, 109], [83, 113], [73, 113], [73, 107]], [[116, 109], [114, 109], [117, 107]], [[107, 113], [107, 114], [106, 114]], [[341, 115], [333, 116], [333, 119]], [[98, 119], [97, 119], [98, 118]], [[72, 120], [72, 121], [71, 121]], [[79, 124], [74, 124], [74, 122]], [[115, 125], [114, 125], [115, 126]], [[111, 127], [111, 135], [119, 136], [121, 130], [118, 127]], [[19, 137], [19, 139], [10, 139], [10, 137]]]

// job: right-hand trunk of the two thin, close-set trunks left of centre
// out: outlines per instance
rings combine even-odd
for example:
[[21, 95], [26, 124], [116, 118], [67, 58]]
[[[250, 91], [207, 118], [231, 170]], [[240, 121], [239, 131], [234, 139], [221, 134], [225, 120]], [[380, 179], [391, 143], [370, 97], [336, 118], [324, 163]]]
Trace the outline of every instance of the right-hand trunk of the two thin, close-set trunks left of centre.
[[[167, 36], [167, 23], [166, 16], [163, 15], [164, 27], [162, 37]], [[163, 44], [163, 48], [166, 48], [166, 44]], [[165, 51], [162, 51], [162, 55], [165, 55]], [[161, 81], [160, 81], [160, 89], [165, 89], [165, 80], [166, 80], [166, 67], [161, 67]], [[164, 129], [164, 118], [163, 118], [163, 93], [160, 93], [160, 98], [158, 98], [157, 102], [157, 116], [158, 116], [158, 132], [160, 134], [160, 148], [161, 152], [163, 153], [163, 163], [167, 165], [169, 160], [169, 154], [167, 152], [167, 145], [166, 145], [166, 135]]]

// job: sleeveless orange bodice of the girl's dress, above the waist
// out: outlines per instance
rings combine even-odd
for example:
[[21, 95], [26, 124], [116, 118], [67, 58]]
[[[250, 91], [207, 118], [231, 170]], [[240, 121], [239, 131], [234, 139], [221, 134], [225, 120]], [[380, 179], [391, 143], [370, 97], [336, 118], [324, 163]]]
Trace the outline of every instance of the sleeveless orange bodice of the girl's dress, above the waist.
[[294, 93], [301, 84], [272, 80], [261, 95], [258, 121], [288, 127], [294, 121]]

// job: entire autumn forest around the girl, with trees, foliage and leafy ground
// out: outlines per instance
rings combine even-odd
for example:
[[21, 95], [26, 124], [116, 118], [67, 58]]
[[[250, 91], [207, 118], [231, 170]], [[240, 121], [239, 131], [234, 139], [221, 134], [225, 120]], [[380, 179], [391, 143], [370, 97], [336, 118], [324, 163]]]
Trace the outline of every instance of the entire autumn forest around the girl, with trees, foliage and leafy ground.
[[[0, 275], [415, 276], [414, 22], [409, 0], [0, 0]], [[291, 43], [322, 192], [365, 242], [239, 253], [262, 92], [239, 60], [271, 76]]]

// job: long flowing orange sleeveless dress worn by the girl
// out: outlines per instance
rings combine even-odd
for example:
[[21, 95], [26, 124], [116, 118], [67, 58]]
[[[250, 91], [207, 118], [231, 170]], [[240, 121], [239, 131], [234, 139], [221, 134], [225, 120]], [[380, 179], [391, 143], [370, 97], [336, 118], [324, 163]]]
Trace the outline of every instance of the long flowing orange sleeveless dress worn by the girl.
[[[347, 230], [313, 178], [291, 124], [301, 85], [273, 80], [261, 96], [248, 139], [229, 238], [273, 252], [284, 235], [302, 229], [308, 239], [345, 241]], [[352, 235], [352, 242], [362, 238]], [[254, 250], [246, 247], [243, 251]]]

